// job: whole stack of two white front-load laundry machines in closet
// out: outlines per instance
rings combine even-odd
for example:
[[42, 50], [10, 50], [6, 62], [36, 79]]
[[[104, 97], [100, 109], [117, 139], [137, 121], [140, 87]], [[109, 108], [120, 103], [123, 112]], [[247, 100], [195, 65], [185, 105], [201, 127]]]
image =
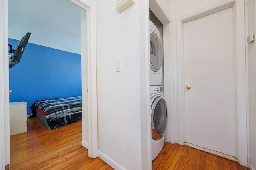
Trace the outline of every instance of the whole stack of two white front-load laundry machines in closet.
[[167, 106], [163, 88], [163, 47], [160, 31], [152, 21], [150, 26], [150, 104], [152, 160], [164, 147], [167, 126]]

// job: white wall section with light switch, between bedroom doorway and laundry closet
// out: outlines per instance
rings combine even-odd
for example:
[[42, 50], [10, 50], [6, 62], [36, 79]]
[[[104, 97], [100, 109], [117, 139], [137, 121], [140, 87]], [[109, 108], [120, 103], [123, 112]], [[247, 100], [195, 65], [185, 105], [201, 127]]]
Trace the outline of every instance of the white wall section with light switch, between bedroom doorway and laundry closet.
[[[99, 157], [117, 169], [142, 169], [142, 141], [148, 145], [150, 138], [142, 139], [141, 133], [140, 20], [146, 23], [148, 16], [140, 17], [144, 2], [136, 1], [122, 13], [115, 0], [95, 2]], [[149, 158], [144, 164], [150, 164]]]

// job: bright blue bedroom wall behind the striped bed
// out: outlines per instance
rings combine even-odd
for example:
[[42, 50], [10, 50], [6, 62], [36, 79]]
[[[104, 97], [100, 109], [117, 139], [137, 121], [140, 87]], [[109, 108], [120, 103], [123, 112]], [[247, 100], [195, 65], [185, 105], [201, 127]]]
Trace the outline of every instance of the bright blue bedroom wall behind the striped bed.
[[[15, 49], [19, 41], [9, 39]], [[9, 54], [10, 55], [10, 54]], [[81, 55], [28, 43], [20, 63], [9, 68], [10, 102], [81, 96]]]

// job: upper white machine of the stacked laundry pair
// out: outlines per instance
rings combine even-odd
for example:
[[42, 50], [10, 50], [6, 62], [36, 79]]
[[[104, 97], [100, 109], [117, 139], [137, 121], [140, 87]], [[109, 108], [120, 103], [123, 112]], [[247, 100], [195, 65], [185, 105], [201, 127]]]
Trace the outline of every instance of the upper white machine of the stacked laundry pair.
[[163, 48], [161, 34], [156, 25], [149, 21], [150, 29], [150, 86], [162, 86]]

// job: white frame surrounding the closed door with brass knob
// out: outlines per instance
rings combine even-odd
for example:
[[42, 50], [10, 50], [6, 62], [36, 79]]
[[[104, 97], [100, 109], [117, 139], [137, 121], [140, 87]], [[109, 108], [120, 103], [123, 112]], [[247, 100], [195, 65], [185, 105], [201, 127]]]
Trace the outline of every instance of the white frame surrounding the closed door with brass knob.
[[235, 25], [236, 49], [236, 158], [239, 164], [248, 166], [247, 163], [247, 110], [246, 110], [246, 56], [245, 56], [245, 29], [244, 29], [244, 0], [224, 1], [203, 10], [188, 14], [177, 19], [177, 90], [178, 90], [178, 142], [184, 145], [185, 134], [185, 94], [184, 94], [184, 54], [183, 54], [183, 24], [233, 7]]

